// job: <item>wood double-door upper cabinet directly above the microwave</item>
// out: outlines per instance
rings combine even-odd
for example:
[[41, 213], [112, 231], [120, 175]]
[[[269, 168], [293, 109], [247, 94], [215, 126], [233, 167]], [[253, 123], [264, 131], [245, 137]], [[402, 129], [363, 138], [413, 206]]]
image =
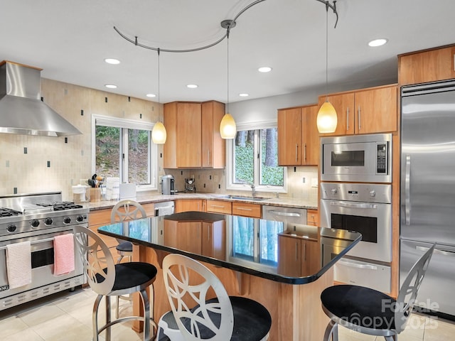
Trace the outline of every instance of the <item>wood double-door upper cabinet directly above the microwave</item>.
[[[319, 105], [326, 96], [319, 97]], [[338, 116], [336, 131], [327, 135], [373, 134], [397, 131], [397, 85], [328, 95]]]

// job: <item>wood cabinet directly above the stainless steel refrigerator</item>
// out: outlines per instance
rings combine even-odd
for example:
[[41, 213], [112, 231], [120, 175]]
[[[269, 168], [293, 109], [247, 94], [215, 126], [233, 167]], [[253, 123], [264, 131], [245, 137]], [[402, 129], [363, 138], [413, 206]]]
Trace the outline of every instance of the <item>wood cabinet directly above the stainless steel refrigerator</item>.
[[446, 46], [398, 56], [400, 85], [455, 78], [455, 47]]

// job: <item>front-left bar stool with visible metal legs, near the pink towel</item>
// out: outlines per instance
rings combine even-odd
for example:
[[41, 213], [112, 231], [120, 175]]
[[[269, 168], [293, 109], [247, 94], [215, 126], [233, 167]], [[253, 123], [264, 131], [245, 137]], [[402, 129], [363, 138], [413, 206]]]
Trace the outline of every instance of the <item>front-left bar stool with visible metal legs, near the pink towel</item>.
[[[75, 246], [79, 251], [84, 264], [87, 282], [95, 293], [98, 294], [93, 305], [92, 324], [93, 340], [98, 340], [98, 335], [103, 330], [107, 331], [105, 340], [110, 341], [111, 326], [129, 320], [144, 321], [144, 341], [151, 340], [151, 320], [149, 296], [146, 288], [151, 286], [156, 278], [156, 267], [144, 262], [127, 262], [114, 264], [114, 257], [102, 239], [87, 227], [73, 227]], [[129, 295], [135, 292], [141, 294], [144, 316], [127, 316], [111, 320], [110, 296]], [[98, 308], [102, 298], [106, 301], [106, 324], [98, 328]]]

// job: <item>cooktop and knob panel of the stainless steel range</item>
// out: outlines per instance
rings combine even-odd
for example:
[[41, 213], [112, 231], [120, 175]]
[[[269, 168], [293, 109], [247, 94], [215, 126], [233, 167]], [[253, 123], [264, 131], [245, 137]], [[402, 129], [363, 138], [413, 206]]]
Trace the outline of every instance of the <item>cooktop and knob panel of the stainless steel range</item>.
[[62, 200], [61, 192], [0, 197], [0, 240], [17, 234], [41, 234], [49, 230], [87, 224], [89, 209]]

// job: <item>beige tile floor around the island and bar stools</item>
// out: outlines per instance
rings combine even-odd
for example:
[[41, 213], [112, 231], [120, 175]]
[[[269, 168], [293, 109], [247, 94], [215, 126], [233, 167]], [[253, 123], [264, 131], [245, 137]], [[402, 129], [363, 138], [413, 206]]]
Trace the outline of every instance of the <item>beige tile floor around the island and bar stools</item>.
[[[0, 312], [1, 341], [90, 341], [95, 293], [90, 288], [54, 294]], [[120, 300], [121, 315], [131, 313], [131, 303]], [[104, 302], [102, 303], [102, 305]], [[112, 305], [114, 300], [112, 299]], [[114, 316], [114, 311], [112, 311]], [[104, 341], [103, 337], [100, 340]], [[139, 341], [142, 335], [131, 323], [112, 327], [112, 340]], [[382, 337], [359, 334], [340, 327], [340, 341], [374, 341]], [[400, 341], [455, 340], [455, 323], [428, 315], [413, 314]], [[280, 340], [281, 341], [281, 340]]]

